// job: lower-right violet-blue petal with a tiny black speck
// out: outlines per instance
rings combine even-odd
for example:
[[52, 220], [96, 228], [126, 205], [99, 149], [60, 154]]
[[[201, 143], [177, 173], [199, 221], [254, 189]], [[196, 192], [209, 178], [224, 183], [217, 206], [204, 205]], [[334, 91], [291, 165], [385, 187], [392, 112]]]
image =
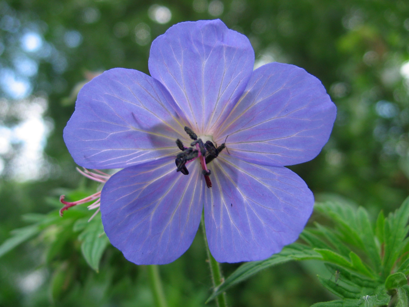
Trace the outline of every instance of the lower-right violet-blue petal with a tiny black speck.
[[263, 260], [298, 238], [314, 196], [297, 174], [226, 154], [214, 161], [214, 184], [205, 190], [205, 225], [218, 262]]

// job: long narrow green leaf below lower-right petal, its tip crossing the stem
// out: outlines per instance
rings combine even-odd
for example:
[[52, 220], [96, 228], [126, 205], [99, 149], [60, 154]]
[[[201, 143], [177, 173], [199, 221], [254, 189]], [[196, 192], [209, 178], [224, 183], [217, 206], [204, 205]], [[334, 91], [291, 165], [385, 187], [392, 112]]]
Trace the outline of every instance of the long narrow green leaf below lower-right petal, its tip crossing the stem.
[[315, 252], [309, 246], [304, 244], [293, 243], [285, 246], [283, 250], [274, 254], [266, 260], [246, 262], [239, 266], [239, 268], [234, 271], [222, 284], [220, 284], [206, 302], [209, 302], [220, 293], [225, 292], [230, 287], [246, 280], [247, 278], [253, 276], [254, 274], [269, 268], [270, 266], [275, 266], [277, 264], [282, 264], [292, 260], [322, 260], [322, 256]]

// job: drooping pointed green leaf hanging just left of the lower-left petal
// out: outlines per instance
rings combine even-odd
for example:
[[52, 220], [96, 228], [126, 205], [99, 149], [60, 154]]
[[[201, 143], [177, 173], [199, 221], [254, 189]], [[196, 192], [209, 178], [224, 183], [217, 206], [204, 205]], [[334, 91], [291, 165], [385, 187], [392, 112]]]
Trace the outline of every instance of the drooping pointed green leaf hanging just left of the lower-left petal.
[[99, 262], [109, 240], [103, 231], [101, 219], [94, 218], [85, 227], [78, 239], [82, 242], [81, 251], [87, 263], [98, 272]]

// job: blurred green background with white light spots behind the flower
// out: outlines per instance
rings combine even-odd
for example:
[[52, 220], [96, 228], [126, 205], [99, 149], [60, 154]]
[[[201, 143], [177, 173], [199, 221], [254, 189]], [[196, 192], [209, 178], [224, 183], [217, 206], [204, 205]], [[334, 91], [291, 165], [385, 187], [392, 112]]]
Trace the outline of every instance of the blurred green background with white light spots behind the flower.
[[[62, 138], [81, 86], [100, 72], [148, 73], [152, 40], [171, 25], [220, 18], [249, 37], [255, 66], [291, 63], [337, 105], [331, 138], [290, 167], [317, 200], [375, 216], [409, 194], [409, 2], [404, 0], [20, 0], [0, 2], [0, 244], [58, 196], [97, 185], [75, 171]], [[31, 220], [35, 216], [31, 216]], [[153, 306], [146, 267], [109, 246], [99, 273], [78, 234], [47, 229], [0, 258], [0, 306]], [[169, 306], [204, 306], [211, 286], [202, 234], [160, 266]], [[229, 275], [238, 264], [223, 264]], [[227, 293], [231, 306], [310, 306], [333, 299], [314, 263], [267, 269]], [[214, 306], [214, 302], [208, 304]]]

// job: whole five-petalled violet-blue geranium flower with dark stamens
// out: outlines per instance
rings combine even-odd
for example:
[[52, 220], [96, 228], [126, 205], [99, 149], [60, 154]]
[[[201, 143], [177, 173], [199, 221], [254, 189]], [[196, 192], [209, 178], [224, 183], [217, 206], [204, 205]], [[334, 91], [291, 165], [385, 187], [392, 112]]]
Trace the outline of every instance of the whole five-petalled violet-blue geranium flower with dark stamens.
[[81, 89], [64, 140], [83, 167], [123, 168], [100, 208], [128, 260], [177, 259], [203, 207], [218, 262], [265, 259], [297, 239], [314, 198], [284, 166], [317, 156], [336, 108], [305, 70], [253, 66], [244, 35], [220, 20], [185, 22], [153, 41], [151, 76], [114, 68]]

